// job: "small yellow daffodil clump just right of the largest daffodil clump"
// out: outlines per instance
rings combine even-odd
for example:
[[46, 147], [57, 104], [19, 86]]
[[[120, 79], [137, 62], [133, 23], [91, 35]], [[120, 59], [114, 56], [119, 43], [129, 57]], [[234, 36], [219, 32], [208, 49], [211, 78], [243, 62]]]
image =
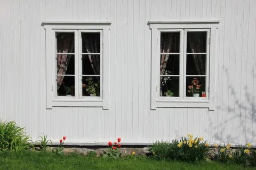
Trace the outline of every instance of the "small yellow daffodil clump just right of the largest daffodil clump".
[[224, 145], [224, 147], [219, 145], [219, 147], [217, 147], [217, 152], [213, 156], [213, 159], [226, 164], [231, 163], [233, 161], [233, 155], [231, 155], [230, 147], [230, 144], [226, 146]]

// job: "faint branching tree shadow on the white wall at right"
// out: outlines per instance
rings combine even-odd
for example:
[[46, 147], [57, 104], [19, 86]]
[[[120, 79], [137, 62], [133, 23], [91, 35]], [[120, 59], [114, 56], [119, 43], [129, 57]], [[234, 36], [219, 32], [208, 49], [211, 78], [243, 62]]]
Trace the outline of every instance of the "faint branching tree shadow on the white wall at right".
[[[256, 63], [254, 63], [254, 65], [255, 64]], [[218, 129], [216, 130], [216, 133], [213, 134], [213, 137], [215, 140], [218, 140], [221, 143], [256, 143], [256, 141], [252, 141], [253, 135], [256, 135], [256, 98], [253, 96], [253, 91], [248, 91], [248, 86], [252, 87], [253, 89], [253, 84], [245, 84], [245, 86], [242, 87], [243, 83], [241, 82], [241, 90], [243, 88], [245, 93], [241, 94], [239, 92], [238, 94], [234, 84], [230, 83], [228, 69], [223, 67], [223, 70], [225, 71], [229, 82], [228, 95], [229, 98], [232, 98], [233, 101], [231, 102], [233, 103], [230, 106], [227, 101], [222, 101], [222, 106], [217, 106], [216, 112], [218, 113], [218, 116], [221, 116], [222, 118], [226, 117], [226, 120], [221, 121], [220, 123], [218, 122], [216, 126], [213, 126], [213, 129]], [[256, 79], [256, 74], [253, 75], [252, 73], [251, 77], [252, 79]], [[218, 100], [223, 100], [223, 98], [219, 97]], [[252, 126], [252, 124], [254, 124], [254, 126]], [[232, 130], [232, 132], [234, 131], [234, 133], [228, 134], [228, 128], [233, 128], [234, 130]], [[223, 136], [222, 133], [225, 131], [227, 135], [224, 134], [225, 136]]]

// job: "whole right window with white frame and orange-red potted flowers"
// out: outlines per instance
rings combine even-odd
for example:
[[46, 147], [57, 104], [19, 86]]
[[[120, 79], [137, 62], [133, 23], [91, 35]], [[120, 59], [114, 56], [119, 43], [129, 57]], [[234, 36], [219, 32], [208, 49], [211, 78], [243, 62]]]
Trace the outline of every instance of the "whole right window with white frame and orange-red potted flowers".
[[151, 108], [214, 109], [218, 22], [149, 24], [152, 29]]

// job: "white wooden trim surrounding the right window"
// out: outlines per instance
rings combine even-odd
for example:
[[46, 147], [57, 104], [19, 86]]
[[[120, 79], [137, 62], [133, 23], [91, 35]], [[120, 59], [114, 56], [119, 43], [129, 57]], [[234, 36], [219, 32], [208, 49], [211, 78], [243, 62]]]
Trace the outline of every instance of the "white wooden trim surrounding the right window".
[[[216, 86], [216, 79], [215, 79], [215, 61], [216, 58], [216, 52], [217, 52], [217, 33], [218, 33], [218, 27], [219, 22], [217, 20], [214, 21], [149, 21], [148, 24], [150, 25], [151, 29], [151, 109], [156, 109], [157, 107], [199, 107], [199, 108], [209, 108], [209, 110], [213, 111], [215, 109], [215, 86]], [[175, 99], [175, 97], [171, 97], [172, 99], [159, 99], [158, 98], [158, 87], [157, 79], [158, 79], [158, 72], [159, 72], [159, 63], [158, 55], [159, 49], [159, 31], [166, 31], [166, 30], [180, 30], [180, 29], [207, 29], [210, 30], [210, 44], [209, 44], [209, 99], [208, 100], [202, 100], [202, 99], [189, 99], [186, 97], [186, 99], [180, 100]], [[185, 31], [184, 31], [185, 33]], [[181, 37], [181, 36], [180, 36]], [[183, 35], [182, 35], [183, 37]], [[185, 37], [185, 36], [184, 36]], [[185, 37], [186, 38], [186, 37]], [[184, 40], [183, 40], [184, 41]], [[180, 42], [181, 44], [181, 42]], [[183, 48], [183, 47], [181, 47]], [[181, 51], [180, 51], [181, 52]], [[185, 52], [183, 52], [184, 56], [182, 57], [182, 60], [184, 60], [183, 57], [185, 57]], [[181, 58], [180, 58], [181, 61]], [[181, 68], [180, 68], [181, 69]], [[207, 74], [206, 74], [207, 75]], [[184, 77], [183, 77], [184, 79]], [[183, 80], [184, 81], [184, 80]], [[183, 87], [183, 85], [182, 85]], [[186, 87], [183, 87], [184, 89]], [[184, 90], [183, 89], [183, 90]], [[208, 90], [208, 89], [207, 89]], [[183, 95], [183, 94], [182, 94]], [[179, 97], [180, 98], [180, 97]]]

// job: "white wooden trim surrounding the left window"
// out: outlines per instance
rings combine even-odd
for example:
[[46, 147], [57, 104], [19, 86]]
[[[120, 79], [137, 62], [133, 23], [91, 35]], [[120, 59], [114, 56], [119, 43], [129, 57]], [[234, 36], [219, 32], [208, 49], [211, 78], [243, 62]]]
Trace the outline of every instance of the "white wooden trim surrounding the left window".
[[[42, 22], [42, 25], [45, 29], [45, 54], [46, 54], [46, 109], [52, 109], [52, 107], [102, 107], [103, 109], [109, 109], [109, 48], [110, 48], [110, 24], [111, 22]], [[79, 33], [81, 31], [102, 31], [101, 32], [101, 45], [102, 45], [102, 69], [101, 69], [101, 79], [102, 84], [101, 90], [102, 95], [101, 99], [99, 98], [90, 98], [87, 99], [85, 97], [83, 98], [76, 98], [71, 97], [68, 98], [54, 98], [54, 80], [53, 79], [53, 68], [55, 57], [52, 57], [52, 55], [55, 55], [55, 47], [53, 45], [53, 36], [55, 36], [55, 31], [74, 31], [75, 32], [75, 60], [79, 59], [79, 52], [78, 52], [78, 38]], [[75, 63], [77, 63], [76, 61]], [[80, 62], [81, 63], [81, 62]], [[79, 70], [78, 67], [75, 67], [75, 73], [77, 73], [75, 76], [75, 79], [78, 79]], [[55, 72], [54, 72], [55, 73]], [[55, 77], [55, 76], [54, 76]], [[75, 82], [78, 82], [78, 80], [75, 80]], [[79, 86], [77, 86], [79, 88]], [[75, 92], [78, 95], [78, 89], [76, 89]]]

